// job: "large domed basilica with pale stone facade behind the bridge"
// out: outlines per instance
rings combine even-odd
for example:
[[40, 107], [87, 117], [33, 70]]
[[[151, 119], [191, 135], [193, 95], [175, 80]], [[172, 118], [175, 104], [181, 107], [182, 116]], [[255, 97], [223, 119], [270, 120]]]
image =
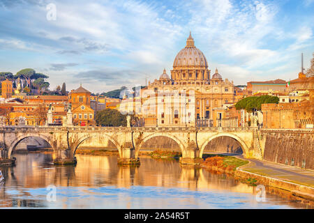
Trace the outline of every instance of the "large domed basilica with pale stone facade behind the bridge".
[[[174, 59], [171, 77], [163, 74], [142, 89], [145, 125], [208, 125], [222, 119], [226, 105], [234, 103], [234, 85], [216, 71], [211, 77], [208, 62], [190, 34], [186, 47]], [[206, 125], [207, 125], [206, 124]]]

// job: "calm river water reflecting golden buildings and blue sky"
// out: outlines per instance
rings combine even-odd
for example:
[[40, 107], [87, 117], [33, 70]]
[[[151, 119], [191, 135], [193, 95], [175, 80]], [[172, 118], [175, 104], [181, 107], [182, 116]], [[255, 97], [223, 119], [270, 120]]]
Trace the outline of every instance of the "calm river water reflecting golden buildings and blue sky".
[[0, 168], [0, 208], [307, 208], [268, 192], [261, 201], [256, 187], [177, 160], [119, 167], [116, 156], [76, 155], [76, 167], [56, 167], [51, 154], [14, 156]]

